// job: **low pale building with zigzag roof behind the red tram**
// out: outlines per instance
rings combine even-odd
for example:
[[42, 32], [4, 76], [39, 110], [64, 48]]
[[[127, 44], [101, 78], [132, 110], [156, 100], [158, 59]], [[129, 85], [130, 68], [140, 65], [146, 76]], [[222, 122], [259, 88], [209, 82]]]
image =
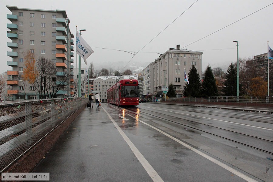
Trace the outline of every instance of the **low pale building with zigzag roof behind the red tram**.
[[123, 79], [138, 80], [138, 75], [122, 75], [120, 78], [117, 76], [97, 76], [94, 80], [93, 91], [98, 91], [101, 101], [107, 102], [107, 89], [117, 83], [117, 81]]

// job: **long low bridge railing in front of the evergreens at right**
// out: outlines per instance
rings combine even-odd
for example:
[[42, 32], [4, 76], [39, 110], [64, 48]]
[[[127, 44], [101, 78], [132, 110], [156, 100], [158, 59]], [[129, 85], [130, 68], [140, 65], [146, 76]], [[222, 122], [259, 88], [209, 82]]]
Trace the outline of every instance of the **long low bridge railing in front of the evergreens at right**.
[[163, 101], [173, 102], [233, 102], [233, 103], [269, 103], [273, 104], [273, 96], [220, 96], [220, 97], [172, 97]]

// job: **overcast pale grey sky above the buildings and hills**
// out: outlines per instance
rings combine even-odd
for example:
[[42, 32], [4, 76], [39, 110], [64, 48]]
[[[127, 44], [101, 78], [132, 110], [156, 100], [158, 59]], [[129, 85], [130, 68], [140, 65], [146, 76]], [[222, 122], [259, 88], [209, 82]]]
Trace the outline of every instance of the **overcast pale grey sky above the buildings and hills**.
[[[11, 51], [6, 46], [6, 14], [11, 12], [6, 5], [18, 8], [66, 10], [70, 19], [71, 32], [76, 36], [76, 27], [86, 29], [83, 38], [94, 50], [87, 59], [88, 65], [93, 62], [95, 69], [110, 67], [123, 69], [132, 58], [132, 54], [123, 51], [139, 51], [174, 19], [183, 13], [195, 0], [180, 1], [3, 1], [0, 0], [0, 53], [2, 64], [0, 73], [12, 67], [6, 62]], [[147, 66], [159, 54], [177, 44], [183, 48], [251, 13], [273, 3], [273, 0], [199, 0], [157, 38], [150, 42], [131, 60], [129, 65]], [[239, 57], [247, 58], [267, 52], [267, 41], [273, 48], [273, 5], [254, 13], [251, 16], [219, 31], [184, 49], [202, 51], [202, 71], [208, 64], [222, 67], [224, 71], [231, 62], [236, 62], [236, 43], [239, 43]], [[75, 40], [74, 40], [75, 42]], [[99, 48], [98, 48], [99, 47]], [[108, 48], [108, 49], [100, 49]], [[232, 48], [232, 49], [231, 49]], [[75, 49], [75, 45], [74, 45]], [[211, 50], [222, 49], [222, 50]], [[152, 52], [152, 53], [150, 53]], [[76, 55], [76, 51], [74, 51]], [[76, 57], [74, 57], [76, 67]], [[84, 66], [82, 61], [82, 67]], [[119, 65], [119, 66], [117, 66]]]

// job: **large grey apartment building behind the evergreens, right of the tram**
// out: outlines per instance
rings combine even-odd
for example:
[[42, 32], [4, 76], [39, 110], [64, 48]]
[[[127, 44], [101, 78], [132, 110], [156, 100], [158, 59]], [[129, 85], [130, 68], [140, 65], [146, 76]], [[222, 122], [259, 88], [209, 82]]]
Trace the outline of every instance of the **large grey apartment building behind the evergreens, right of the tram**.
[[174, 85], [178, 96], [184, 92], [184, 70], [188, 74], [192, 65], [201, 75], [203, 52], [170, 48], [143, 69], [143, 94], [160, 96], [162, 86]]

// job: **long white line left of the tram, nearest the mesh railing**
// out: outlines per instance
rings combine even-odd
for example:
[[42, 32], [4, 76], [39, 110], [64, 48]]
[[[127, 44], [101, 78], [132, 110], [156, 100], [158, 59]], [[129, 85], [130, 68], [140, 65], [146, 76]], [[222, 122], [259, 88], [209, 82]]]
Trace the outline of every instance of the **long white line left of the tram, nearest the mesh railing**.
[[[103, 107], [102, 107], [103, 108]], [[150, 165], [150, 163], [144, 158], [144, 156], [140, 153], [140, 151], [136, 148], [136, 146], [133, 144], [133, 142], [126, 136], [126, 134], [121, 130], [121, 128], [118, 126], [118, 124], [113, 120], [113, 118], [110, 116], [109, 113], [103, 108], [103, 110], [106, 112], [110, 120], [113, 122], [113, 124], [116, 126], [116, 129], [120, 132], [120, 135], [123, 137], [123, 139], [126, 141], [126, 143], [129, 145], [133, 153], [135, 154], [136, 158], [140, 161], [144, 169], [147, 171], [148, 175], [151, 177], [151, 179], [154, 182], [163, 182], [162, 178], [157, 174], [157, 172], [153, 169], [153, 167]]]

